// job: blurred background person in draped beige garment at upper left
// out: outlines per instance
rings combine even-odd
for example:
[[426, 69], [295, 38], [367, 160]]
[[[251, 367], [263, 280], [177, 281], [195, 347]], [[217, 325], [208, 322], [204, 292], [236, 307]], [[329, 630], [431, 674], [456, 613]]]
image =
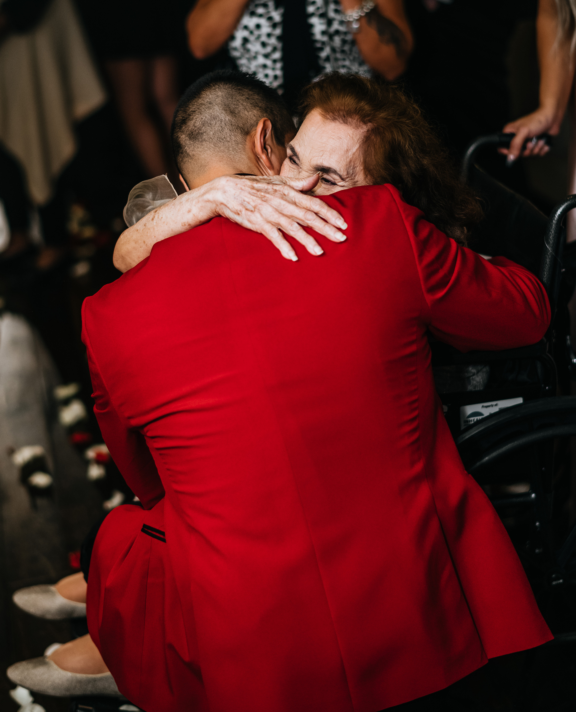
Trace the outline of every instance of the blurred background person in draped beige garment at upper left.
[[[49, 268], [62, 256], [65, 207], [57, 181], [75, 155], [75, 124], [106, 102], [70, 0], [6, 0], [0, 5], [0, 191], [23, 251], [39, 209]], [[26, 235], [28, 233], [28, 235]], [[39, 241], [36, 236], [36, 241]]]

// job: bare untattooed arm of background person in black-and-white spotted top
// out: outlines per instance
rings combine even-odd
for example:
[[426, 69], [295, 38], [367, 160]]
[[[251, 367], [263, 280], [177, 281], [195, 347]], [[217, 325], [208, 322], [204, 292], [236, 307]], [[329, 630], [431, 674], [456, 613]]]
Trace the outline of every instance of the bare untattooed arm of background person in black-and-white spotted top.
[[196, 59], [218, 52], [230, 39], [249, 0], [198, 0], [186, 18], [188, 47]]

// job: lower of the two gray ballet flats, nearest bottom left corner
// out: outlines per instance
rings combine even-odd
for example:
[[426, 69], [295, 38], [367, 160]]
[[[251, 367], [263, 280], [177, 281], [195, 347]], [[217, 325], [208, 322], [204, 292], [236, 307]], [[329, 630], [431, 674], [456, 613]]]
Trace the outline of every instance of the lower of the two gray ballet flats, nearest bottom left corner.
[[122, 697], [112, 674], [81, 675], [58, 667], [46, 657], [14, 663], [6, 670], [9, 679], [27, 690], [55, 697], [107, 695]]

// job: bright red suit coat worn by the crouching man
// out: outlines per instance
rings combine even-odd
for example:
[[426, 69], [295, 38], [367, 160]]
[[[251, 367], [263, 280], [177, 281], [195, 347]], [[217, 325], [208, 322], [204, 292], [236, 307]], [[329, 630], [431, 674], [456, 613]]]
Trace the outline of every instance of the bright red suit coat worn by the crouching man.
[[348, 241], [320, 258], [214, 219], [85, 300], [95, 412], [144, 505], [102, 525], [88, 624], [147, 712], [375, 712], [551, 638], [426, 337], [536, 342], [543, 287], [393, 187], [325, 200]]

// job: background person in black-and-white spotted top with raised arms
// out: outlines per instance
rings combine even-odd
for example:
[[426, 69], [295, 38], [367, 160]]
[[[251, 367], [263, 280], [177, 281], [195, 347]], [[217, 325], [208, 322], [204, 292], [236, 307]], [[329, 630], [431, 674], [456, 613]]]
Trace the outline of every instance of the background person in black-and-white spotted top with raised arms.
[[394, 80], [412, 51], [402, 0], [198, 0], [186, 31], [196, 58], [227, 45], [238, 68], [279, 90], [292, 110], [321, 73]]

